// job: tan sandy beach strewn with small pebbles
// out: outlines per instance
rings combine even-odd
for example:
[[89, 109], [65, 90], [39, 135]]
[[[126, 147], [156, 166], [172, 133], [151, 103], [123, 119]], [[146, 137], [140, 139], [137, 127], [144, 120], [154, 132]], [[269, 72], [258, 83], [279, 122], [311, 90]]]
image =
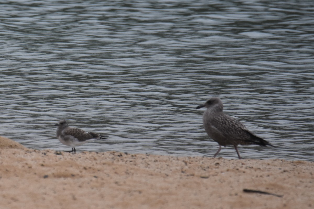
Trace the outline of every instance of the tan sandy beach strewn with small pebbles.
[[0, 153], [1, 208], [314, 208], [313, 162], [72, 154], [5, 137]]

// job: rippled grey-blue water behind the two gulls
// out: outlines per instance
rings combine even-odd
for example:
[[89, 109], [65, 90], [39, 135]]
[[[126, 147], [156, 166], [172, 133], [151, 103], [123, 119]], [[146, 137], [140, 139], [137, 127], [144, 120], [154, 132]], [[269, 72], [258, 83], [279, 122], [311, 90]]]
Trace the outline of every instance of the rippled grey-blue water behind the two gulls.
[[108, 135], [78, 151], [213, 156], [195, 108], [219, 96], [277, 146], [239, 146], [243, 158], [314, 160], [312, 1], [10, 1], [0, 14], [0, 134], [26, 147], [70, 150], [53, 126], [67, 119]]

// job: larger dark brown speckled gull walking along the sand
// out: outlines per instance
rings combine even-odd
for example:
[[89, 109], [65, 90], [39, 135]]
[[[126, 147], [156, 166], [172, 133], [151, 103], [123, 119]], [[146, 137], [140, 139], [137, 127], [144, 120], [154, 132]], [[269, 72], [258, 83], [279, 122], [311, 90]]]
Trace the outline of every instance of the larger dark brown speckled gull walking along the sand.
[[236, 153], [241, 159], [237, 146], [257, 144], [266, 147], [272, 146], [264, 139], [255, 136], [238, 120], [222, 112], [224, 105], [219, 97], [213, 97], [209, 99], [205, 104], [199, 105], [196, 109], [206, 107], [203, 114], [203, 125], [206, 133], [215, 142], [218, 142], [219, 149], [214, 157], [221, 150], [221, 146], [233, 145], [236, 149]]

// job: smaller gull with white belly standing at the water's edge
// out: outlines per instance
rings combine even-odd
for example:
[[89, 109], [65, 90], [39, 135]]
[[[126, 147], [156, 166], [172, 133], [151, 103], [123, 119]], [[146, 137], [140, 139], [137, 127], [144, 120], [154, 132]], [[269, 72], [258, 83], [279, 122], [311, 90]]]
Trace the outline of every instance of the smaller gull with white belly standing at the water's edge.
[[55, 124], [55, 126], [58, 126], [57, 138], [59, 141], [64, 145], [72, 147], [72, 150], [67, 152], [74, 151], [75, 153], [75, 147], [77, 146], [81, 146], [95, 139], [106, 139], [104, 138], [105, 136], [102, 136], [98, 133], [86, 132], [78, 128], [71, 128], [69, 127], [66, 120], [59, 121], [57, 124]]

